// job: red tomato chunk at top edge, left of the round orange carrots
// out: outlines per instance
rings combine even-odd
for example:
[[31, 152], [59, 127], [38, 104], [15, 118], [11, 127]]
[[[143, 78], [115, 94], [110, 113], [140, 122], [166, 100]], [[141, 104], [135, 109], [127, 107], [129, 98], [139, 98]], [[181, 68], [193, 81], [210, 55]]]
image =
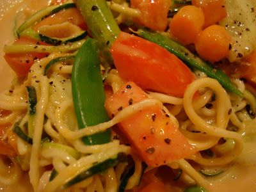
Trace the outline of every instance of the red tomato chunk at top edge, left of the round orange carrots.
[[131, 0], [131, 8], [140, 10], [140, 17], [135, 22], [155, 30], [164, 31], [168, 24], [167, 14], [170, 0]]

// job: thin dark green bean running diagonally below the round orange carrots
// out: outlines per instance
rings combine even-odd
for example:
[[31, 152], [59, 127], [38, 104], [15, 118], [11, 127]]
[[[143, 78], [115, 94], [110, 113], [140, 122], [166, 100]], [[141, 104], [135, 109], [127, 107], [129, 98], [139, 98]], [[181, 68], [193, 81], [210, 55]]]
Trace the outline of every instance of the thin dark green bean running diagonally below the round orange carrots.
[[205, 72], [207, 76], [218, 80], [224, 88], [227, 88], [227, 90], [236, 93], [236, 95], [239, 97], [243, 97], [243, 93], [237, 89], [237, 87], [230, 81], [228, 76], [226, 76], [226, 74], [224, 74], [219, 68], [212, 67], [211, 63], [202, 60], [186, 49], [186, 47], [171, 40], [168, 36], [154, 33], [148, 29], [139, 29], [138, 35], [149, 40], [150, 42], [160, 45], [167, 51], [172, 52], [172, 54], [175, 54], [180, 60], [188, 65], [188, 67], [197, 68], [198, 70]]

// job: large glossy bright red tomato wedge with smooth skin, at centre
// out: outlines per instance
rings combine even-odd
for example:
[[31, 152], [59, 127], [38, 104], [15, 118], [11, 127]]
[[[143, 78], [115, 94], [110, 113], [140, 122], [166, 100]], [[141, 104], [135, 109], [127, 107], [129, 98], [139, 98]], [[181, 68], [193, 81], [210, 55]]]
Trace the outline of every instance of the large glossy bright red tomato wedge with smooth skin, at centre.
[[120, 32], [110, 49], [120, 77], [144, 90], [183, 97], [195, 74], [163, 47]]

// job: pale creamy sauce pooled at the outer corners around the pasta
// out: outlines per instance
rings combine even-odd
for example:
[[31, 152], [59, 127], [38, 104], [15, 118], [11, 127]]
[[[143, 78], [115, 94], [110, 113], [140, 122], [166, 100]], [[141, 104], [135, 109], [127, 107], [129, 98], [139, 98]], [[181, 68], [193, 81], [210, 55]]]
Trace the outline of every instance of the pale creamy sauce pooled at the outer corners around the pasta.
[[[22, 10], [20, 17], [28, 17], [29, 14], [35, 12], [33, 8], [40, 9], [47, 4], [49, 1], [0, 1], [2, 7], [0, 10], [0, 47], [2, 47], [0, 51], [0, 92], [6, 90], [10, 86], [12, 78], [15, 77], [15, 73], [4, 60], [4, 52], [2, 51], [5, 44], [12, 44], [15, 40], [13, 36], [15, 18], [19, 15], [20, 10]], [[216, 177], [207, 177], [207, 180], [212, 183], [211, 191], [214, 192], [256, 191], [256, 137], [251, 140], [246, 138], [243, 153], [239, 159], [228, 166], [225, 172]], [[1, 185], [0, 188], [3, 191], [17, 191], [17, 189], [19, 191], [31, 191], [28, 174], [24, 175], [18, 184], [8, 187]]]

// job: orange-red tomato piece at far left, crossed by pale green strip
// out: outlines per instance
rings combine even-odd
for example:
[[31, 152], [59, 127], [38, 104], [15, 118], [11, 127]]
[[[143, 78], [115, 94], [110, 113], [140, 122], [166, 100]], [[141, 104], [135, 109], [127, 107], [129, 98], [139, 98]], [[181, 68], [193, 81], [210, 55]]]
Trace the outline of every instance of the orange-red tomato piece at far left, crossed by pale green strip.
[[[29, 36], [21, 36], [17, 38], [13, 45], [49, 45], [44, 42], [40, 42]], [[36, 59], [42, 59], [47, 56], [48, 53], [41, 52], [15, 52], [6, 53], [4, 59], [14, 72], [19, 77], [26, 76], [30, 67], [33, 65]]]

